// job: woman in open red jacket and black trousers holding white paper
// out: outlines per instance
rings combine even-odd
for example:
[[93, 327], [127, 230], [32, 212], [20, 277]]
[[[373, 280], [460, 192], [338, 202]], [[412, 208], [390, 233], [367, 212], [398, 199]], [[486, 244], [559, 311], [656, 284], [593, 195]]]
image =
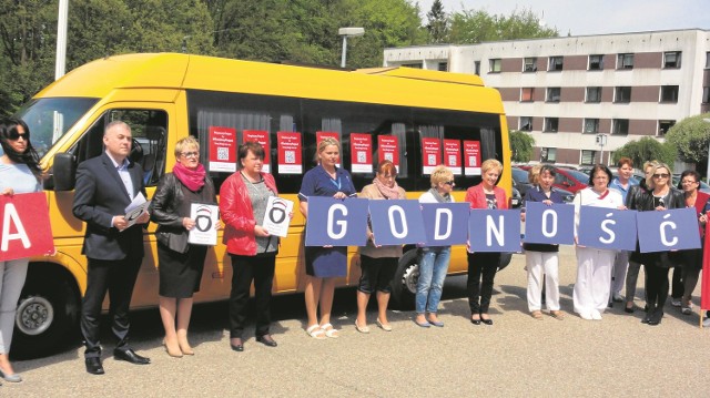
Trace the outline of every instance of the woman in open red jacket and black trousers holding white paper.
[[[246, 304], [254, 282], [256, 300], [256, 341], [276, 347], [268, 333], [271, 289], [274, 279], [278, 237], [262, 224], [270, 196], [277, 196], [274, 177], [262, 172], [264, 147], [255, 142], [240, 146], [241, 169], [220, 188], [220, 213], [224, 221], [224, 243], [232, 257], [232, 293], [230, 295], [230, 346], [244, 350], [242, 334], [246, 322]], [[293, 216], [291, 214], [290, 216]]]

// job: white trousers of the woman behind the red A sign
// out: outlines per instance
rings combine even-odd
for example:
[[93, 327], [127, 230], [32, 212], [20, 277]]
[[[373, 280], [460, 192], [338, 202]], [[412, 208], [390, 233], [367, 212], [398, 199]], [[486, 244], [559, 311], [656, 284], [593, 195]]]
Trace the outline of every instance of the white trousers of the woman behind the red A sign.
[[14, 313], [27, 277], [29, 258], [0, 262], [0, 354], [10, 353]]

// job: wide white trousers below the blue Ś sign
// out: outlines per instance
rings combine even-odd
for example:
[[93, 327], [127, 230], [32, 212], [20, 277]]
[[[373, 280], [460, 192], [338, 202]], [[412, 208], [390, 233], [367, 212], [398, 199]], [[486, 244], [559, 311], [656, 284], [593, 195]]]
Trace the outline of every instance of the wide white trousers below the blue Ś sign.
[[615, 251], [600, 251], [577, 246], [577, 282], [575, 283], [575, 313], [604, 313], [609, 304], [611, 267]]

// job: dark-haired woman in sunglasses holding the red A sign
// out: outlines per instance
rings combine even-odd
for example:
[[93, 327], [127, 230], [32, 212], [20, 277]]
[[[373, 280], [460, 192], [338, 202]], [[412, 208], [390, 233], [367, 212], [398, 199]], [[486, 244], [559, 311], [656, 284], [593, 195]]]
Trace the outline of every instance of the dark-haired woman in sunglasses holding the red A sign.
[[[30, 143], [27, 124], [17, 119], [0, 122], [0, 144], [4, 152], [0, 156], [0, 195], [41, 191], [40, 159]], [[0, 262], [0, 377], [10, 382], [22, 381], [22, 377], [12, 369], [8, 355], [28, 264], [29, 258]]]

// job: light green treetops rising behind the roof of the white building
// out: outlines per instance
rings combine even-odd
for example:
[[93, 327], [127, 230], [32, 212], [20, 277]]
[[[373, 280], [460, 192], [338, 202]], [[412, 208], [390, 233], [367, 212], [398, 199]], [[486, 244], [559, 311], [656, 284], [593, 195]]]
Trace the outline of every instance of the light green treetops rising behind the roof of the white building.
[[462, 10], [452, 16], [449, 40], [453, 44], [475, 44], [484, 41], [558, 37], [557, 29], [546, 28], [529, 9], [515, 10], [510, 16], [489, 14], [484, 10]]

